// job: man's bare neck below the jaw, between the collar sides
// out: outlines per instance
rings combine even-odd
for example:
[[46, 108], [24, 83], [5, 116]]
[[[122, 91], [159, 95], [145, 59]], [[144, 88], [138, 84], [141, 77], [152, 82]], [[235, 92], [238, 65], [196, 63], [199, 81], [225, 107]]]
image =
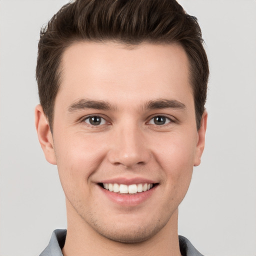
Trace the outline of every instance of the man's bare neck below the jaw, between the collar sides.
[[110, 240], [97, 233], [80, 216], [69, 216], [67, 210], [67, 234], [62, 248], [64, 256], [96, 255], [169, 255], [180, 256], [177, 234], [176, 209], [166, 225], [149, 239], [137, 243]]

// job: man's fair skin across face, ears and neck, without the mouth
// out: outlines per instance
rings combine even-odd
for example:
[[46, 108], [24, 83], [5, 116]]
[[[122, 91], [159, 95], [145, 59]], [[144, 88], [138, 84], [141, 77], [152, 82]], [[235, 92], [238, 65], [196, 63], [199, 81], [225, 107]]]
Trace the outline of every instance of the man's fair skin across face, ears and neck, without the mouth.
[[[64, 51], [61, 68], [53, 134], [40, 105], [35, 123], [66, 196], [63, 254], [180, 255], [178, 205], [200, 163], [207, 119], [204, 112], [197, 130], [185, 51], [178, 44], [77, 42]], [[111, 107], [84, 107], [86, 100]], [[157, 100], [179, 106], [148, 107]], [[89, 115], [100, 124], [91, 125]], [[137, 177], [157, 185], [134, 205], [112, 201], [98, 185]]]

